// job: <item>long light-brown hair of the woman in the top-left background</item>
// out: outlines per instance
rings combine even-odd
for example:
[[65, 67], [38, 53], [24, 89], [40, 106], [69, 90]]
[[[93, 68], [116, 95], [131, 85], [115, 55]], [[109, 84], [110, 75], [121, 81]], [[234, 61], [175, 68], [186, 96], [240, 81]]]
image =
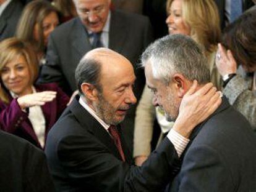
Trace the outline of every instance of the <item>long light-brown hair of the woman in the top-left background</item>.
[[[58, 10], [48, 1], [35, 0], [27, 4], [17, 26], [17, 38], [30, 42], [36, 52], [45, 52], [43, 20], [51, 14], [51, 12], [56, 12], [56, 14], [58, 14]], [[36, 24], [38, 24], [38, 41], [36, 41], [34, 36], [34, 28]]]

